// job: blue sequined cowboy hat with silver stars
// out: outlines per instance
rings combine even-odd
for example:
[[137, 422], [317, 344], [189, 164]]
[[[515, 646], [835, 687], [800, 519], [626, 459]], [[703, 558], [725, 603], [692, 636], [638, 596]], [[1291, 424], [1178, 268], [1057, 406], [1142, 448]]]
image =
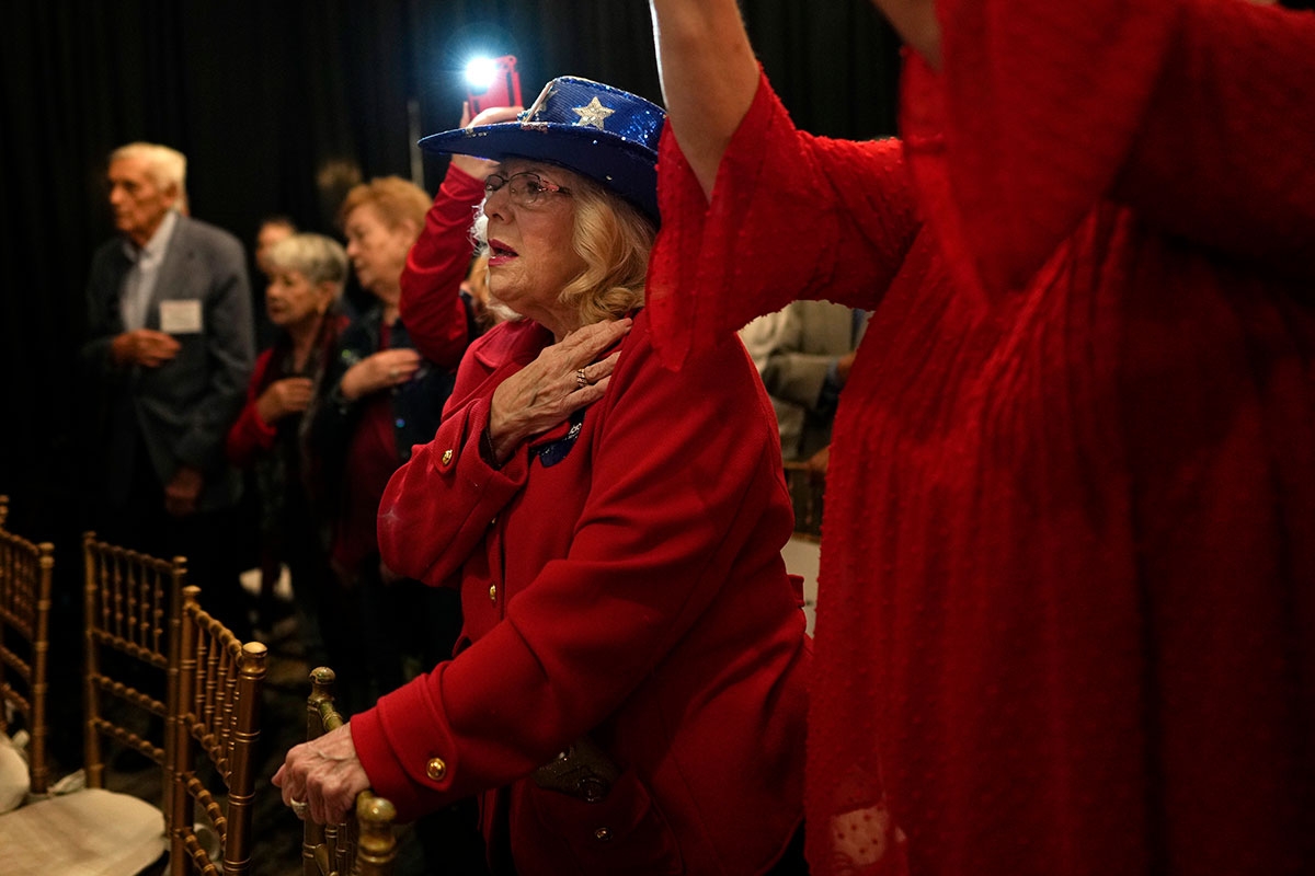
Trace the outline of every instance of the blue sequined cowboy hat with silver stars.
[[551, 162], [601, 183], [658, 222], [661, 106], [577, 76], [558, 76], [514, 122], [459, 127], [419, 141], [426, 152]]

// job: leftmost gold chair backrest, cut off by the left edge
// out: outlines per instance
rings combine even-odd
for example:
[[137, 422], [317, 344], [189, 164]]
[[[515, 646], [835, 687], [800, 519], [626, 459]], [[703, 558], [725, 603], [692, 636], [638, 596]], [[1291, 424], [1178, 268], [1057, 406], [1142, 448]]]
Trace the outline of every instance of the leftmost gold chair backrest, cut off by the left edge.
[[28, 732], [28, 771], [34, 795], [46, 793], [46, 693], [50, 650], [50, 579], [54, 545], [5, 529], [8, 496], [0, 496], [0, 733], [11, 733], [9, 709]]

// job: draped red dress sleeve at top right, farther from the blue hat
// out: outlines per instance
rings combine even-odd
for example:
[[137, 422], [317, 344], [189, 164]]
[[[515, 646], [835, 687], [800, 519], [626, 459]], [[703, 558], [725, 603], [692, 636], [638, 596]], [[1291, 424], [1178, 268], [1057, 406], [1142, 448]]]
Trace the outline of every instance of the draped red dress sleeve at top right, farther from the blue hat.
[[1240, 255], [1308, 243], [1311, 16], [1220, 0], [936, 12], [944, 67], [910, 60], [901, 120], [928, 222], [988, 289], [1023, 285], [1111, 196]]

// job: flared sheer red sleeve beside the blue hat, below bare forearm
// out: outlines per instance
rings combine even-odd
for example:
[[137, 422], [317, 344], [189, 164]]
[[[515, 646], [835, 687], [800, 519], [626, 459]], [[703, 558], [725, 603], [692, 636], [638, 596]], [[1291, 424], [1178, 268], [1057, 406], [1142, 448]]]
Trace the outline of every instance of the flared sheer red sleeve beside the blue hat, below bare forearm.
[[669, 368], [796, 298], [873, 307], [918, 230], [898, 141], [800, 131], [765, 77], [722, 159], [711, 202], [669, 126], [658, 198], [663, 227], [646, 303]]

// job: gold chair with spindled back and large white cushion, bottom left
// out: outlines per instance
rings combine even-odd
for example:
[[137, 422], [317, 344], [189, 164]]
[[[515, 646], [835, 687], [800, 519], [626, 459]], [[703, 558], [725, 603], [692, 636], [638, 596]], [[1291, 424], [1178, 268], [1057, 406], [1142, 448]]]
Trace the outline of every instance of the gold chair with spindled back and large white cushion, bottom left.
[[[178, 629], [171, 612], [185, 562], [99, 542], [92, 533], [84, 536], [83, 549], [88, 787], [0, 816], [5, 876], [135, 876], [167, 850], [163, 802], [172, 745], [166, 720]], [[105, 787], [101, 737], [158, 766], [160, 805]]]

